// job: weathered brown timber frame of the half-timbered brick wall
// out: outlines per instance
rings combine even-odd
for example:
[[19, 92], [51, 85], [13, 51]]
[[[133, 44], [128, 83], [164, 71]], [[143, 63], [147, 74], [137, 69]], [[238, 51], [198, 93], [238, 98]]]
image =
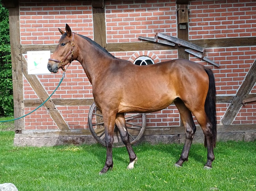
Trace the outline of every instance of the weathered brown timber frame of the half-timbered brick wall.
[[[41, 86], [40, 82], [35, 75], [27, 74], [27, 63], [22, 54], [26, 54], [27, 51], [36, 50], [50, 50], [53, 52], [56, 45], [21, 45], [20, 44], [20, 25], [19, 25], [19, 3], [18, 0], [2, 0], [2, 4], [9, 9], [9, 22], [10, 22], [10, 43], [11, 43], [11, 59], [12, 59], [12, 78], [13, 78], [13, 97], [14, 97], [14, 117], [20, 117], [24, 115], [24, 107], [35, 107], [40, 105], [47, 97], [48, 94]], [[185, 5], [187, 8], [188, 0], [177, 0], [177, 8], [179, 5]], [[94, 40], [99, 43], [102, 47], [106, 48], [109, 52], [119, 51], [142, 51], [142, 50], [178, 50], [178, 58], [188, 59], [189, 54], [184, 51], [184, 47], [175, 45], [174, 47], [158, 44], [154, 42], [131, 42], [131, 43], [106, 43], [106, 25], [105, 25], [105, 7], [104, 0], [92, 1], [93, 7], [93, 22], [96, 23], [94, 27]], [[178, 14], [177, 14], [178, 17]], [[186, 29], [177, 29], [177, 37], [196, 44], [204, 48], [215, 48], [215, 47], [234, 47], [234, 46], [255, 46], [256, 37], [244, 37], [244, 38], [222, 38], [222, 39], [202, 39], [202, 40], [188, 40], [188, 24]], [[23, 99], [23, 75], [26, 77], [35, 93], [40, 99]], [[244, 140], [251, 140], [246, 138], [246, 133], [253, 133], [256, 137], [255, 124], [243, 125], [231, 125], [236, 114], [242, 106], [242, 100], [245, 98], [255, 97], [255, 94], [249, 95], [249, 92], [253, 88], [256, 82], [256, 61], [253, 63], [249, 73], [245, 77], [245, 80], [235, 96], [217, 96], [217, 103], [231, 103], [225, 115], [221, 119], [221, 125], [218, 125], [218, 133], [241, 133]], [[41, 88], [38, 88], [41, 87]], [[55, 105], [88, 105], [90, 106], [93, 99], [49, 99], [45, 104], [45, 108], [49, 111], [50, 116], [53, 118], [59, 130], [53, 132], [53, 136], [68, 136], [72, 134], [69, 131], [69, 126], [65, 122], [65, 119], [61, 116], [60, 112], [56, 109]], [[24, 130], [24, 119], [18, 119], [15, 121], [16, 133], [23, 133]], [[39, 131], [38, 131], [39, 132]], [[37, 136], [48, 136], [47, 133], [40, 131], [41, 135]], [[26, 134], [26, 132], [24, 132]], [[81, 131], [73, 131], [72, 136], [82, 137], [83, 135], [90, 135], [90, 131], [85, 129]], [[199, 130], [198, 133], [202, 133]], [[33, 134], [33, 133], [32, 133]], [[39, 133], [40, 134], [40, 133]], [[55, 134], [55, 135], [54, 135]], [[233, 135], [232, 134], [232, 135]], [[184, 139], [183, 128], [177, 127], [166, 127], [166, 128], [146, 128], [145, 136], [154, 135], [170, 135], [178, 136], [178, 142], [182, 142]], [[30, 136], [35, 136], [31, 135]], [[182, 138], [183, 137], [183, 138]], [[87, 137], [88, 138], [88, 137]], [[82, 142], [93, 142], [93, 138], [90, 141], [81, 140]], [[147, 138], [144, 138], [147, 140]], [[175, 139], [177, 140], [177, 139]], [[174, 141], [175, 142], [175, 141]], [[177, 141], [176, 141], [177, 142]], [[60, 142], [65, 143], [65, 141]], [[69, 142], [68, 142], [69, 143]], [[71, 142], [76, 143], [76, 142]], [[81, 142], [79, 142], [81, 143]]]

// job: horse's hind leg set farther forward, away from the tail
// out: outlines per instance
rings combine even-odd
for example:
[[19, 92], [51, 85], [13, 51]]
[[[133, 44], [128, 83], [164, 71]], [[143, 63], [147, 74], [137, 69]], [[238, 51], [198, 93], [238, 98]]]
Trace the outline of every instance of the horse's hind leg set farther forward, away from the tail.
[[180, 167], [184, 161], [187, 161], [189, 150], [197, 130], [195, 122], [193, 120], [191, 111], [185, 106], [181, 99], [176, 99], [174, 101], [180, 114], [180, 118], [184, 124], [186, 139], [180, 155], [179, 160], [175, 163], [175, 166]]

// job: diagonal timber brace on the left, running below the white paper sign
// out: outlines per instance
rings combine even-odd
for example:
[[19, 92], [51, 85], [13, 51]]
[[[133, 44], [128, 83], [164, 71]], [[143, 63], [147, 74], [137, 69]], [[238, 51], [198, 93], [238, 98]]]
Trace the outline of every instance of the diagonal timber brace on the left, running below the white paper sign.
[[[23, 62], [22, 64], [23, 74], [42, 103], [44, 100], [46, 100], [49, 97], [49, 95], [44, 90], [43, 86], [37, 79], [36, 75], [31, 75], [27, 73], [27, 61], [23, 56], [22, 56], [22, 62]], [[51, 99], [46, 101], [44, 103], [44, 106], [59, 129], [69, 129], [69, 125], [66, 123], [66, 121], [64, 120], [60, 112], [57, 110], [55, 104], [52, 102]]]

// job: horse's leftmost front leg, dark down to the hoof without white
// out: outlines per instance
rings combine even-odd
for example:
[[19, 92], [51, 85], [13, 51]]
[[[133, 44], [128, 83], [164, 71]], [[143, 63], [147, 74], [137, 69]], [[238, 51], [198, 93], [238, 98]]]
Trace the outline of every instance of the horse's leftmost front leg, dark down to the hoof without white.
[[115, 127], [115, 118], [116, 115], [105, 117], [103, 114], [103, 121], [105, 126], [105, 143], [107, 148], [107, 157], [105, 166], [100, 171], [99, 174], [106, 173], [110, 168], [113, 168], [113, 158], [112, 158], [112, 146], [114, 142], [114, 127]]

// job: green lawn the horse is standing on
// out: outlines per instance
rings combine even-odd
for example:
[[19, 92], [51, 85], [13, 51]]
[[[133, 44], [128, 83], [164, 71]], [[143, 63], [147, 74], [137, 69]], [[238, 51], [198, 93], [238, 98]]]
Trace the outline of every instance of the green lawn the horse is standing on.
[[15, 147], [13, 138], [13, 131], [0, 131], [0, 184], [11, 182], [19, 191], [256, 190], [256, 142], [218, 142], [211, 170], [203, 169], [202, 144], [192, 145], [181, 168], [174, 163], [183, 145], [133, 146], [138, 156], [133, 170], [126, 169], [126, 149], [114, 148], [114, 168], [100, 176], [105, 147]]

